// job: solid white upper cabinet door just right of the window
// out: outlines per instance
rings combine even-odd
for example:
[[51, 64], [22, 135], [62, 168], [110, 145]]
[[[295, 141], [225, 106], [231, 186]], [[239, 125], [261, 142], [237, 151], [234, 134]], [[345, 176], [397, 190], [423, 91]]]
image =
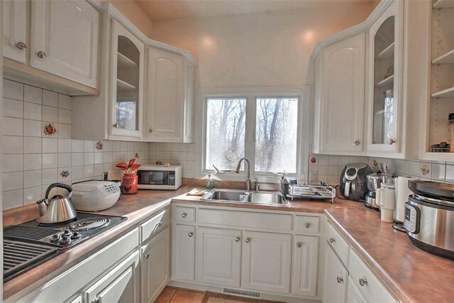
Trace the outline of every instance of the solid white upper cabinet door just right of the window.
[[365, 34], [323, 50], [319, 153], [361, 152], [365, 89]]

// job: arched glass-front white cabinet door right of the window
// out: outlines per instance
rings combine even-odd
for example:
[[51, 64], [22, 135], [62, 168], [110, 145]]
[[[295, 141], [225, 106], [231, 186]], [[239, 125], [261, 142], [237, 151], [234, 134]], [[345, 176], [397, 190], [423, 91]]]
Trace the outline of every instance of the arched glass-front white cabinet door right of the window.
[[370, 28], [367, 150], [399, 152], [402, 108], [402, 1], [393, 1]]

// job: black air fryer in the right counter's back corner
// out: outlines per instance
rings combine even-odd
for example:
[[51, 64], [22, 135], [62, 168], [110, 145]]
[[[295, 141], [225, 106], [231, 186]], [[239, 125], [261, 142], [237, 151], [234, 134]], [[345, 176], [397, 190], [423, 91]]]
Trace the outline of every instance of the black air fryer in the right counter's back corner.
[[342, 170], [339, 184], [341, 194], [347, 199], [364, 201], [367, 194], [366, 176], [372, 174], [372, 168], [367, 164], [350, 163]]

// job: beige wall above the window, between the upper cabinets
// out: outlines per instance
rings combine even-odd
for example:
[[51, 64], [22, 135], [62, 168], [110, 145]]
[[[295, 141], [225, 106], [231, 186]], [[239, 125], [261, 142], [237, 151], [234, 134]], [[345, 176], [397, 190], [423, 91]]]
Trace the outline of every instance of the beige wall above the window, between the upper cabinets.
[[155, 21], [152, 38], [189, 50], [199, 61], [201, 88], [306, 83], [317, 41], [369, 16], [370, 2], [324, 9]]

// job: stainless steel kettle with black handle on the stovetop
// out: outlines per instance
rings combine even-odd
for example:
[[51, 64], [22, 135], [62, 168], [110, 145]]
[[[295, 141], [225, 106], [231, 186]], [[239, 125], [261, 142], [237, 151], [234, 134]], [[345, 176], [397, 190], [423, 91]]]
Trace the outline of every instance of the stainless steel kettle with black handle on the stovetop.
[[[50, 190], [55, 187], [67, 189], [66, 197], [61, 194], [55, 194], [55, 196], [49, 198]], [[45, 191], [45, 199], [36, 202], [38, 204], [38, 219], [36, 221], [40, 223], [60, 223], [74, 219], [77, 216], [77, 211], [70, 200], [71, 194], [72, 187], [70, 185], [63, 183], [50, 184]]]

